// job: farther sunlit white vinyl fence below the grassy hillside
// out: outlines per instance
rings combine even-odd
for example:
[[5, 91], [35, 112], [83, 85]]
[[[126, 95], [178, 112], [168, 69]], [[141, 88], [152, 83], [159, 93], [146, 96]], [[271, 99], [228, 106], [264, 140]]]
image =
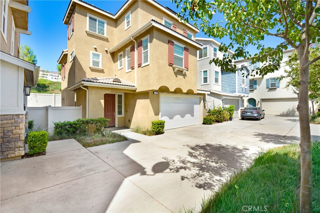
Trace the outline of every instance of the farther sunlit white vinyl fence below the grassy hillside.
[[61, 94], [30, 93], [28, 107], [61, 106]]

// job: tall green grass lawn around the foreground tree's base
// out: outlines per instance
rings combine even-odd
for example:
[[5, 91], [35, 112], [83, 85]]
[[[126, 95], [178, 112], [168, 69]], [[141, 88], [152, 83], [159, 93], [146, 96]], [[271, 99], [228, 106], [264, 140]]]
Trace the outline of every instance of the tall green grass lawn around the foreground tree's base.
[[[320, 142], [312, 144], [313, 211], [320, 212]], [[299, 212], [300, 147], [293, 144], [268, 150], [252, 166], [231, 177], [203, 201], [200, 212]], [[261, 208], [259, 209], [261, 211]], [[248, 211], [249, 212], [249, 211]], [[259, 212], [259, 211], [254, 211]]]

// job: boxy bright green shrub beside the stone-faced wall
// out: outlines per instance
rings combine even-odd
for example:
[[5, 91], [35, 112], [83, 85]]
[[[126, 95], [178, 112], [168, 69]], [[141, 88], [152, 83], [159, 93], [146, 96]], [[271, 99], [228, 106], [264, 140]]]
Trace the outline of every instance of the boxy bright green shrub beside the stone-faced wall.
[[45, 152], [48, 145], [48, 132], [30, 131], [28, 134], [28, 154]]

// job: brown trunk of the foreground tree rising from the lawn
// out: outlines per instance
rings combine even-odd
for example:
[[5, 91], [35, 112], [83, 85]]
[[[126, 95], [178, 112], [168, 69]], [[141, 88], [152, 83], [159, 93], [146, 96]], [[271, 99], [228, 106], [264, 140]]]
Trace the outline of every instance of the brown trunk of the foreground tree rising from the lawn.
[[[304, 55], [305, 44], [300, 43], [298, 57], [300, 67], [309, 62], [309, 53]], [[300, 121], [300, 160], [301, 160], [301, 185], [300, 185], [300, 212], [312, 212], [312, 158], [311, 136], [309, 123], [309, 67], [299, 71], [299, 95], [297, 110]]]

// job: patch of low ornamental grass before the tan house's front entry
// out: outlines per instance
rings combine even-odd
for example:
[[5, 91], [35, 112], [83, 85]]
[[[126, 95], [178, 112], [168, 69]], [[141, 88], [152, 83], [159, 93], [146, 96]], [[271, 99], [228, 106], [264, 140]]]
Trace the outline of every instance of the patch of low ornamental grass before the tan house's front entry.
[[90, 136], [81, 136], [81, 135], [73, 135], [73, 136], [57, 136], [52, 135], [49, 138], [49, 141], [53, 140], [64, 140], [64, 139], [70, 139], [74, 138], [76, 141], [78, 141], [82, 146], [84, 147], [92, 147], [92, 146], [100, 146], [104, 144], [113, 144], [120, 141], [125, 141], [127, 138], [124, 135], [105, 131], [104, 134], [92, 134]]

